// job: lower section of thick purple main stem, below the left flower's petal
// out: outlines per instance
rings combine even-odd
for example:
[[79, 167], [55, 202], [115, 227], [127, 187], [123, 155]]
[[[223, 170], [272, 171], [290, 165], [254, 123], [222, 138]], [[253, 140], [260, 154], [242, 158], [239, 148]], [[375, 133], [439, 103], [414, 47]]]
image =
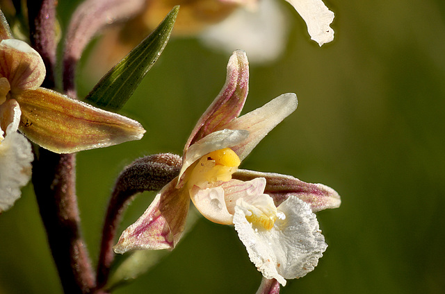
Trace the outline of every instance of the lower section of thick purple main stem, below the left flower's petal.
[[40, 148], [33, 164], [33, 185], [63, 290], [90, 293], [95, 277], [80, 232], [74, 168], [74, 154]]

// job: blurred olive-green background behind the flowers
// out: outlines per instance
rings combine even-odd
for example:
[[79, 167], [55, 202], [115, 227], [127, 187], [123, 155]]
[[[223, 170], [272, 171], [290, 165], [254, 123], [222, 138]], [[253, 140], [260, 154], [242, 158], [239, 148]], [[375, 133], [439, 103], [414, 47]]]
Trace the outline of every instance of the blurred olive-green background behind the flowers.
[[[72, 12], [74, 2], [59, 2]], [[445, 293], [445, 1], [325, 3], [336, 33], [321, 48], [282, 3], [291, 16], [286, 52], [274, 64], [251, 64], [243, 111], [296, 92], [296, 112], [241, 167], [321, 182], [343, 201], [318, 213], [329, 247], [314, 272], [281, 293]], [[228, 58], [197, 40], [172, 39], [122, 110], [145, 126], [145, 137], [79, 153], [93, 261], [116, 176], [137, 157], [181, 154], [223, 86]], [[94, 83], [81, 80], [80, 93]], [[152, 198], [133, 202], [121, 231]], [[0, 293], [61, 293], [31, 185], [0, 216], [0, 236]], [[115, 293], [254, 293], [260, 280], [233, 227], [200, 218], [159, 265]]]

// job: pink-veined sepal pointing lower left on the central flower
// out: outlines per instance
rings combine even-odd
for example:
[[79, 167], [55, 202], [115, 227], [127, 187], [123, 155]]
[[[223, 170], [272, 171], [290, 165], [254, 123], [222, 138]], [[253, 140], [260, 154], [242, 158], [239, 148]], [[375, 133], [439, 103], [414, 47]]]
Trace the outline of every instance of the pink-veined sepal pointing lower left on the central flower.
[[114, 246], [116, 253], [175, 248], [184, 232], [190, 205], [187, 191], [176, 189], [176, 181], [163, 187], [136, 223], [122, 232]]

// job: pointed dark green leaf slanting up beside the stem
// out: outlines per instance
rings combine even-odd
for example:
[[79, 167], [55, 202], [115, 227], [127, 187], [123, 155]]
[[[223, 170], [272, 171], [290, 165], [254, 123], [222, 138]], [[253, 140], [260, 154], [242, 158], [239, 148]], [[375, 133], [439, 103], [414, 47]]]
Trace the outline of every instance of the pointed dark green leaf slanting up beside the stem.
[[175, 6], [143, 42], [99, 80], [86, 100], [108, 110], [120, 110], [161, 55], [178, 11], [179, 6]]

